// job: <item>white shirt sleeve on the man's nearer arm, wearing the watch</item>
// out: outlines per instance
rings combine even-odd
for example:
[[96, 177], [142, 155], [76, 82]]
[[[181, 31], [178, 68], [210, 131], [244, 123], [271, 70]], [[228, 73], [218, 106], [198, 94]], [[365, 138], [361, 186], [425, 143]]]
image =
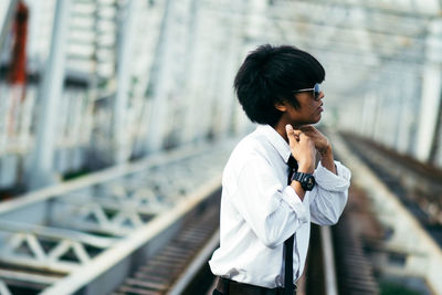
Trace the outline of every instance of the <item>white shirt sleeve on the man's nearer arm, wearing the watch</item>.
[[269, 247], [287, 240], [308, 222], [308, 208], [276, 178], [271, 165], [256, 157], [242, 167], [231, 201], [257, 239]]

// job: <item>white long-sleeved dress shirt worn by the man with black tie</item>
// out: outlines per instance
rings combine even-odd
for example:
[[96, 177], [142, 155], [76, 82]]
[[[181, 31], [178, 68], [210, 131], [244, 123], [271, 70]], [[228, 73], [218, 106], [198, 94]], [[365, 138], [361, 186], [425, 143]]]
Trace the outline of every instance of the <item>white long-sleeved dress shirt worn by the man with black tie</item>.
[[320, 162], [316, 186], [302, 201], [287, 186], [290, 146], [260, 125], [232, 151], [222, 177], [220, 247], [209, 261], [214, 275], [263, 286], [284, 286], [284, 241], [295, 233], [293, 274], [304, 271], [311, 222], [335, 224], [347, 202], [350, 171]]

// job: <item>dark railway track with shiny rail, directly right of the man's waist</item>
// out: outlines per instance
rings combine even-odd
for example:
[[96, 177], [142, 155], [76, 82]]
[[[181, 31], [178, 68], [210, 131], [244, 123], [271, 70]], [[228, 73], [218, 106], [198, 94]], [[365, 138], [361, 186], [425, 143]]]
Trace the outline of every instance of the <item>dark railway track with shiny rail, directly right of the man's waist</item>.
[[[339, 139], [339, 137], [334, 136], [332, 141], [335, 143]], [[335, 157], [347, 165], [345, 160], [348, 151], [340, 147], [341, 145], [336, 146]], [[352, 186], [349, 189], [346, 209], [336, 225], [318, 226], [312, 224], [305, 271], [306, 283], [305, 289], [301, 294], [377, 295], [380, 292], [375, 278], [372, 263], [364, 250], [362, 236], [352, 220], [355, 199], [359, 199]], [[367, 210], [368, 208], [364, 209]], [[372, 222], [364, 223], [370, 224]]]

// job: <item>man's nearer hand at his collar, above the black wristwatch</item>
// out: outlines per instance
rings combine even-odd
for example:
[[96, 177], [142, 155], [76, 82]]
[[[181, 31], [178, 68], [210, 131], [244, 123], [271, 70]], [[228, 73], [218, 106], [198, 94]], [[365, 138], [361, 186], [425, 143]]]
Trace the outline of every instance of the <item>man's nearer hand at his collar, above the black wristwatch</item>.
[[315, 143], [309, 136], [301, 130], [294, 130], [292, 125], [285, 126], [288, 145], [293, 157], [298, 162], [298, 171], [313, 173], [315, 170], [316, 149]]

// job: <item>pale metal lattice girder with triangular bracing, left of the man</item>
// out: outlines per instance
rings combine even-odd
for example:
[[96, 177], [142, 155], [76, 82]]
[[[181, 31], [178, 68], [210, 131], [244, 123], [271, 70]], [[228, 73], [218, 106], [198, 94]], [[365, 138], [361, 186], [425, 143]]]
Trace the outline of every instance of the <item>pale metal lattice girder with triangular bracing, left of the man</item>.
[[[65, 275], [84, 273], [96, 260], [109, 255], [108, 251], [122, 255], [115, 249], [118, 245], [136, 247], [139, 241], [133, 240], [139, 240], [137, 232], [158, 226], [156, 220], [176, 211], [178, 204], [182, 207], [183, 200], [208, 182], [220, 179], [230, 145], [159, 154], [84, 177], [76, 180], [78, 185], [65, 183], [56, 193], [46, 190], [28, 197], [29, 202], [22, 197], [25, 202], [21, 204], [0, 207], [0, 263], [8, 265], [0, 270], [2, 294], [8, 294], [8, 286], [23, 284], [44, 289]], [[19, 213], [22, 210], [32, 211], [31, 219], [36, 214], [41, 222], [28, 221]]]

